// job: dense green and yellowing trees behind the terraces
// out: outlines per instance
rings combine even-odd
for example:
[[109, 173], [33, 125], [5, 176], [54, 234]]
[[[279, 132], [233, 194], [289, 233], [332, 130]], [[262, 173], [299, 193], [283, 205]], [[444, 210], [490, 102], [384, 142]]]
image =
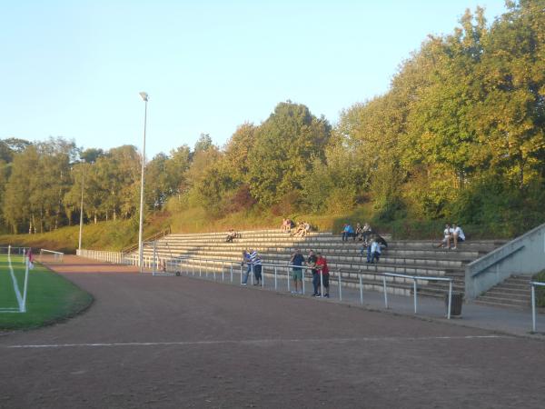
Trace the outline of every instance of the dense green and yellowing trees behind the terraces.
[[[354, 211], [409, 236], [444, 220], [501, 236], [543, 223], [545, 0], [507, 7], [491, 24], [478, 8], [451, 35], [429, 36], [386, 94], [344, 109], [334, 126], [287, 101], [223, 147], [201, 135], [193, 150], [156, 155], [147, 209], [202, 208], [214, 220]], [[2, 141], [0, 225], [35, 233], [77, 223], [82, 179], [86, 221], [131, 219], [139, 168], [134, 146]]]

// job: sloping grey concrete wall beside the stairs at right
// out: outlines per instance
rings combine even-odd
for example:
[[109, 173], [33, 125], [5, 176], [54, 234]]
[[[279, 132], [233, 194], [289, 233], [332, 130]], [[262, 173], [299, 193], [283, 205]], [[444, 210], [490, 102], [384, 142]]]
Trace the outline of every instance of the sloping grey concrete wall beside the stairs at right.
[[545, 269], [545, 224], [530, 230], [466, 266], [465, 297], [474, 299], [510, 275]]

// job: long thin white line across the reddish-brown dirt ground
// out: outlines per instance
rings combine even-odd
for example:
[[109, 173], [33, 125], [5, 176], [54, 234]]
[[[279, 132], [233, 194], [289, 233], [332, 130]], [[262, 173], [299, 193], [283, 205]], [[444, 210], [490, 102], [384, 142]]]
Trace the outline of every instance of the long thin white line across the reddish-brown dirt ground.
[[285, 343], [352, 343], [352, 342], [406, 342], [432, 340], [473, 340], [473, 339], [508, 339], [509, 335], [465, 335], [465, 336], [419, 336], [419, 337], [362, 337], [362, 338], [300, 338], [300, 339], [253, 339], [253, 340], [219, 340], [219, 341], [173, 341], [157, 343], [94, 343], [94, 344], [22, 344], [0, 345], [4, 348], [75, 348], [75, 347], [111, 347], [111, 346], [193, 346], [222, 344], [285, 344]]

